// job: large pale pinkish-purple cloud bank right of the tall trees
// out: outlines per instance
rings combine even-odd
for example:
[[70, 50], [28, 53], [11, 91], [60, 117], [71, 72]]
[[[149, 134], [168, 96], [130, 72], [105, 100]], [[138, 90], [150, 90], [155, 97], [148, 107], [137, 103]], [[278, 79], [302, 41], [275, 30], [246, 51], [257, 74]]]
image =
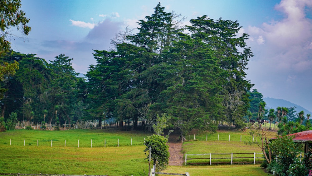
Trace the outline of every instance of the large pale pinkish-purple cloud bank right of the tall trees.
[[311, 8], [311, 0], [282, 0], [275, 10], [282, 12], [283, 19], [245, 29], [255, 54], [248, 79], [264, 95], [312, 103], [304, 94], [290, 92], [312, 88], [312, 21], [306, 16]]

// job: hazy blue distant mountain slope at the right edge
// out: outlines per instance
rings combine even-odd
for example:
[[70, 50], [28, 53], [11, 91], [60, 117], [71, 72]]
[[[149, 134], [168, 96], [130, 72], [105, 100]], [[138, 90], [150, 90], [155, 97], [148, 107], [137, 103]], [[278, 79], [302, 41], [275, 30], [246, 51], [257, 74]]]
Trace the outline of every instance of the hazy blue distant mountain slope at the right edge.
[[283, 99], [275, 99], [275, 98], [263, 98], [263, 101], [266, 102], [266, 109], [276, 109], [278, 106], [280, 107], [297, 107], [296, 111], [297, 113], [299, 113], [300, 111], [304, 111], [305, 114], [312, 114], [310, 111], [308, 111], [307, 109], [297, 105], [297, 104], [293, 104], [289, 101], [283, 100]]

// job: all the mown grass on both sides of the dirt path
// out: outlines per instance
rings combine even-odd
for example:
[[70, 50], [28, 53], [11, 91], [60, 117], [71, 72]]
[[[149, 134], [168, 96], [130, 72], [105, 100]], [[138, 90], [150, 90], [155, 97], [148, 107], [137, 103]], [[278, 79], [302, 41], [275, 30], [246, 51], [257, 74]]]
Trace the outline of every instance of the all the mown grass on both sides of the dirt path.
[[[229, 133], [231, 138], [233, 137], [233, 141], [230, 142]], [[219, 134], [219, 141], [213, 141], [217, 134]], [[143, 142], [149, 135], [144, 132], [120, 132], [115, 129], [2, 132], [0, 133], [0, 173], [146, 175], [148, 161], [144, 160], [146, 155], [143, 152], [145, 148]], [[240, 135], [247, 137], [247, 132], [218, 130], [216, 134], [209, 135], [210, 141], [209, 139], [206, 141], [206, 134], [199, 134], [197, 139], [204, 140], [185, 142], [183, 152], [198, 154], [260, 150], [257, 146], [245, 145], [243, 141], [237, 140]], [[224, 136], [224, 139], [221, 136]], [[118, 139], [119, 147], [117, 147]], [[104, 147], [105, 140], [106, 147]], [[192, 176], [268, 175], [259, 165], [254, 164], [169, 166], [164, 172], [189, 172]]]

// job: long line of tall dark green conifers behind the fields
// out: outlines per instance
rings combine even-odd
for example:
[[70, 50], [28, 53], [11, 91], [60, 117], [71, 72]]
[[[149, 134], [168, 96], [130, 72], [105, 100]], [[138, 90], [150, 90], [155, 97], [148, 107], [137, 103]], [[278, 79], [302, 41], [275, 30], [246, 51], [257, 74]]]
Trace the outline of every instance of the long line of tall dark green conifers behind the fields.
[[179, 15], [160, 3], [138, 22], [136, 34], [119, 32], [112, 50], [94, 50], [97, 64], [78, 77], [72, 59], [60, 54], [47, 63], [34, 54], [7, 53], [17, 61], [14, 76], [2, 82], [3, 117], [70, 123], [77, 119], [138, 118], [150, 130], [157, 114], [166, 113], [170, 127], [215, 131], [219, 121], [244, 126], [250, 106], [246, 65], [252, 52], [238, 21], [206, 15], [182, 26]]

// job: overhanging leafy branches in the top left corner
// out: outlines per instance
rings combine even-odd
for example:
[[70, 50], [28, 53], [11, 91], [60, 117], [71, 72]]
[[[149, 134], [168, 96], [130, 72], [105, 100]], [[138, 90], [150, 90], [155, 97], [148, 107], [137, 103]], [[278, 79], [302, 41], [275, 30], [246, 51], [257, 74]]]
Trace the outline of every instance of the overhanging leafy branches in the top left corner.
[[17, 30], [22, 30], [24, 35], [28, 35], [31, 30], [31, 27], [27, 26], [29, 18], [25, 16], [21, 7], [21, 0], [0, 1], [0, 55], [11, 48], [11, 27], [17, 26]]

